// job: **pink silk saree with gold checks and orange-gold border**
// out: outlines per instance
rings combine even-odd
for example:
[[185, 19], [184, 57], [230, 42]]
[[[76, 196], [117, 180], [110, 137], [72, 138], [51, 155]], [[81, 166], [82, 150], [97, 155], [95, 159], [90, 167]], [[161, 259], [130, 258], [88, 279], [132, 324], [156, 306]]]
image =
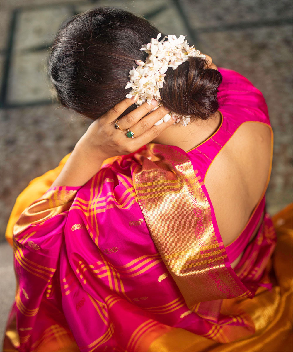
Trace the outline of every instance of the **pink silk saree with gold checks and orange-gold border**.
[[290, 209], [275, 227], [266, 213], [233, 270], [196, 171], [150, 143], [82, 187], [47, 190], [59, 167], [28, 201], [32, 182], [4, 351], [291, 351]]

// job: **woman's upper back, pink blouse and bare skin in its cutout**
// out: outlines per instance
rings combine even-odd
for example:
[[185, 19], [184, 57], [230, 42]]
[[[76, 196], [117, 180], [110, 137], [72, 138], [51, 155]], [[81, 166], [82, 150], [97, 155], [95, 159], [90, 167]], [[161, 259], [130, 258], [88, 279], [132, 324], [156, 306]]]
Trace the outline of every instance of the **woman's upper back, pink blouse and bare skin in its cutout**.
[[[260, 218], [263, 212], [273, 132], [261, 92], [240, 74], [219, 71], [223, 75], [218, 95], [221, 125], [187, 154], [202, 177], [219, 233], [228, 246], [253, 214]], [[253, 230], [250, 227], [246, 236], [253, 237]]]

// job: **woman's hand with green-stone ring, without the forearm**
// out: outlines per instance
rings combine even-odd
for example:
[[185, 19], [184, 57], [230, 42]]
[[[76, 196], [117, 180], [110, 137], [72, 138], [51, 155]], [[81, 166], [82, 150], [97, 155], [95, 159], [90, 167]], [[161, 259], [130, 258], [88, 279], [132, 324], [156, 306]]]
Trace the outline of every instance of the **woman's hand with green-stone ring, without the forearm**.
[[[138, 150], [158, 137], [161, 132], [174, 123], [174, 120], [170, 118], [168, 122], [163, 122], [158, 126], [154, 125], [170, 109], [161, 106], [149, 113], [154, 107], [158, 106], [158, 101], [153, 100], [151, 105], [144, 103], [120, 118], [118, 124], [122, 131], [116, 130], [114, 127], [115, 121], [133, 103], [133, 99], [126, 98], [122, 100], [106, 114], [95, 120], [85, 133], [84, 138], [87, 140], [88, 145], [96, 149], [99, 154], [102, 154], [104, 159]], [[148, 115], [145, 116], [146, 114]], [[126, 136], [127, 130], [134, 133], [133, 138]]]

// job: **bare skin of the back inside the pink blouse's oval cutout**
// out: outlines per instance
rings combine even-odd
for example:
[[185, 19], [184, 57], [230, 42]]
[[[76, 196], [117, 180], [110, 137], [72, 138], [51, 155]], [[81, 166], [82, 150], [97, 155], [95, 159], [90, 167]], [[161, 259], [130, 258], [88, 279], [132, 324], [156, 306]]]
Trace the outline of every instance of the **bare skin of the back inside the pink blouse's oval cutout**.
[[205, 175], [224, 244], [241, 232], [266, 189], [272, 162], [268, 125], [245, 122], [224, 145]]

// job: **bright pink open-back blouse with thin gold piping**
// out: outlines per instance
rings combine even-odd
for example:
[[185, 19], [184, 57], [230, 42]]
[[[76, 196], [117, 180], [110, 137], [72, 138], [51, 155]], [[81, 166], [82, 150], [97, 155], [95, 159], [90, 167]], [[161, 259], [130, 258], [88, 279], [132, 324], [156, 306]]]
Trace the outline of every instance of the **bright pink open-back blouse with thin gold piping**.
[[[212, 162], [241, 125], [246, 122], [259, 122], [265, 124], [270, 128], [272, 137], [270, 169], [265, 189], [263, 190], [256, 207], [251, 213], [246, 226], [244, 226], [241, 233], [238, 234], [233, 242], [225, 246], [228, 259], [231, 263], [244, 251], [266, 212], [265, 192], [272, 169], [273, 131], [268, 117], [267, 106], [261, 92], [257, 90], [247, 78], [235, 71], [219, 68], [219, 72], [223, 75], [223, 82], [218, 93], [218, 100], [220, 103], [218, 111], [221, 114], [221, 124], [210, 138], [187, 151], [187, 155], [190, 157], [193, 168], [195, 172], [201, 176], [203, 184], [206, 173]], [[229, 80], [226, 78], [226, 72], [229, 72]], [[241, 83], [243, 83], [245, 89], [242, 88]], [[247, 87], [250, 87], [251, 89], [248, 90]], [[250, 106], [247, 106], [248, 101], [251, 104]], [[206, 192], [206, 196], [212, 208], [208, 192]], [[214, 211], [212, 211], [212, 213], [214, 213]], [[213, 224], [216, 231], [219, 233], [215, 214]]]

